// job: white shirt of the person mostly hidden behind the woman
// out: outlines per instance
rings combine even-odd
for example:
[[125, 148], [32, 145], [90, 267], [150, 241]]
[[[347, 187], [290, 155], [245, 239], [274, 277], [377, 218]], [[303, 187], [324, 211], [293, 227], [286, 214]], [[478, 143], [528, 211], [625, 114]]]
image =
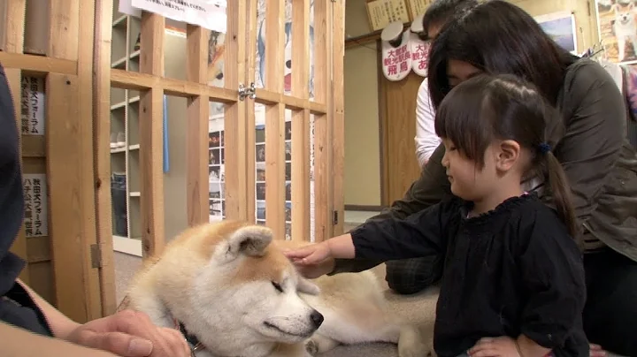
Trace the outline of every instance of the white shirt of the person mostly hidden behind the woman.
[[427, 80], [423, 80], [418, 87], [418, 95], [416, 96], [416, 157], [418, 165], [425, 166], [429, 157], [438, 148], [441, 141], [434, 129], [434, 106], [429, 98], [429, 87]]

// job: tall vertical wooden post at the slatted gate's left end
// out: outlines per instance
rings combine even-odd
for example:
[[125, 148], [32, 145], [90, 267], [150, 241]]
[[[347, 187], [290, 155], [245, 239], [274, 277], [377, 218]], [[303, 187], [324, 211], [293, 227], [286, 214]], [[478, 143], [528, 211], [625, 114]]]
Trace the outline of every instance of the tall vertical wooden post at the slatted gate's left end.
[[112, 249], [111, 201], [111, 39], [113, 0], [96, 0], [93, 66], [93, 150], [95, 161], [96, 232], [100, 247], [102, 315], [117, 309]]

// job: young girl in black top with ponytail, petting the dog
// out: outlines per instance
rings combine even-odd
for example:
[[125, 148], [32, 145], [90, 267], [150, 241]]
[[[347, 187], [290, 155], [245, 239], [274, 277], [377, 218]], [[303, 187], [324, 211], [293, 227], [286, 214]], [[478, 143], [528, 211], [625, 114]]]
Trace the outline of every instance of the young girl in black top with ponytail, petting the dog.
[[[564, 171], [545, 137], [558, 122], [542, 95], [514, 77], [466, 80], [435, 118], [454, 196], [286, 254], [299, 267], [443, 254], [439, 356], [588, 355], [578, 232]], [[549, 179], [556, 209], [521, 188], [534, 174]]]

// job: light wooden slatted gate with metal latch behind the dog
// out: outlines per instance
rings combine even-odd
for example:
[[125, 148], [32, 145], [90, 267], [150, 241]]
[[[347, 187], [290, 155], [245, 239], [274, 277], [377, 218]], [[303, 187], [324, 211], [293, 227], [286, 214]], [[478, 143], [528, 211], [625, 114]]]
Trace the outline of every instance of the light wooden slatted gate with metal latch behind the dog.
[[[315, 240], [320, 241], [342, 232], [343, 147], [344, 147], [344, 1], [319, 1], [314, 4], [314, 66], [328, 68], [316, 71], [315, 97], [309, 98], [309, 25], [310, 0], [295, 0], [293, 61], [303, 68], [293, 76], [292, 94], [283, 91], [284, 33], [278, 24], [285, 16], [285, 0], [267, 2], [265, 15], [266, 77], [264, 88], [257, 88], [255, 98], [240, 98], [239, 86], [255, 82], [255, 41], [257, 39], [257, 0], [238, 0], [227, 4], [225, 87], [207, 85], [208, 31], [201, 27], [187, 29], [188, 80], [163, 77], [164, 24], [157, 14], [142, 11], [142, 49], [140, 72], [112, 69], [111, 24], [112, 0], [96, 1], [95, 67], [95, 175], [96, 225], [101, 254], [101, 286], [103, 314], [116, 307], [111, 233], [109, 108], [111, 87], [140, 91], [142, 161], [142, 250], [144, 258], [161, 254], [165, 247], [164, 200], [162, 178], [162, 96], [188, 98], [188, 224], [203, 224], [208, 216], [208, 125], [209, 101], [226, 103], [226, 217], [255, 221], [255, 123], [254, 104], [266, 106], [266, 225], [278, 238], [285, 237], [285, 110], [292, 110], [292, 201], [295, 207], [310, 207], [310, 136], [309, 122], [315, 117]], [[299, 10], [303, 9], [303, 11]], [[249, 21], [245, 21], [249, 19]], [[270, 29], [268, 31], [268, 29]], [[246, 42], [244, 39], [250, 39]], [[253, 40], [254, 39], [254, 40]], [[149, 53], [146, 49], [152, 49]], [[303, 50], [295, 50], [295, 49]], [[227, 65], [236, 64], [236, 65]], [[144, 118], [145, 117], [145, 118]], [[268, 136], [267, 133], [275, 133]], [[296, 150], [295, 148], [301, 148]], [[281, 160], [282, 159], [282, 160]], [[294, 239], [309, 239], [310, 210], [292, 210]]]

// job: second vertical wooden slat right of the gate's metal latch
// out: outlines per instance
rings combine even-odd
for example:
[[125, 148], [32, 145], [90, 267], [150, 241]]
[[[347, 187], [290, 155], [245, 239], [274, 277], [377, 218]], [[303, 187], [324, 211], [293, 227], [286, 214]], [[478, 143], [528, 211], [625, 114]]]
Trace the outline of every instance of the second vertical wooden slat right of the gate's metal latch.
[[[292, 6], [292, 96], [310, 97], [310, 0]], [[310, 240], [310, 110], [292, 112], [292, 239]]]

